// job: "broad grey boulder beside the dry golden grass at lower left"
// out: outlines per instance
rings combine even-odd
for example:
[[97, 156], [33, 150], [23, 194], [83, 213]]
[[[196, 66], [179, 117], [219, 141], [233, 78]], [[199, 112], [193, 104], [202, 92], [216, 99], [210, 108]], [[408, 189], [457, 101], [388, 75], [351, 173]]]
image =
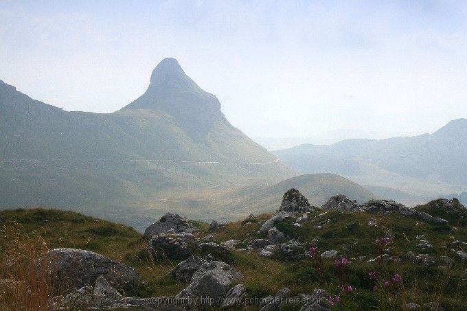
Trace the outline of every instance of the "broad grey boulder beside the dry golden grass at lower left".
[[39, 262], [43, 260], [49, 262], [56, 275], [57, 288], [65, 292], [93, 286], [101, 275], [111, 286], [123, 292], [134, 292], [139, 286], [139, 275], [134, 268], [91, 251], [54, 249]]

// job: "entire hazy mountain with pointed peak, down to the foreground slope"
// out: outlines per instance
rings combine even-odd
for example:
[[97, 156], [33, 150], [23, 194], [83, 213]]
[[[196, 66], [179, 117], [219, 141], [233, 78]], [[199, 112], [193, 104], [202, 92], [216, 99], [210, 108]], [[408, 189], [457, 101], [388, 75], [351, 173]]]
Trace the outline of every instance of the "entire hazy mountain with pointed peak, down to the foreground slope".
[[136, 226], [143, 207], [220, 218], [221, 197], [292, 176], [275, 159], [173, 58], [115, 113], [63, 111], [0, 81], [1, 207], [79, 208]]

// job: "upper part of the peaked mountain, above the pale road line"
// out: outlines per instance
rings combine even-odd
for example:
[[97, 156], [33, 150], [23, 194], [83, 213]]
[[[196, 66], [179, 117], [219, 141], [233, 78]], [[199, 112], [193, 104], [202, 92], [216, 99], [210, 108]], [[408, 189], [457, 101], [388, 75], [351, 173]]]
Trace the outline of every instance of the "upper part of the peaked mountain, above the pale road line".
[[115, 113], [63, 111], [0, 82], [0, 158], [161, 159], [257, 163], [275, 157], [232, 126], [216, 96], [174, 58]]

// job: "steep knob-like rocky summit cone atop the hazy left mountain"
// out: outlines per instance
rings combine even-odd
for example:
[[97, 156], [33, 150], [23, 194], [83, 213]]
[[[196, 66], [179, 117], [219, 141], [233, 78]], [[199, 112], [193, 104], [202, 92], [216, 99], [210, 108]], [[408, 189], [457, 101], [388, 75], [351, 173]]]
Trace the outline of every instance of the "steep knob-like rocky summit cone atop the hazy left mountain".
[[163, 111], [196, 139], [209, 132], [215, 122], [227, 122], [217, 97], [198, 87], [174, 58], [159, 62], [147, 91], [122, 110], [126, 109]]

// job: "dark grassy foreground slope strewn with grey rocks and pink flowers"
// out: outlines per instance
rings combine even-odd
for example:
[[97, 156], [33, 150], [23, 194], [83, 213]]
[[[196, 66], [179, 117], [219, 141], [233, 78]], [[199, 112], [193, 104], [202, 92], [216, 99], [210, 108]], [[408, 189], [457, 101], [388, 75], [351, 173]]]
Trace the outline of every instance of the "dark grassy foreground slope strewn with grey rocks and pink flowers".
[[[66, 287], [54, 283], [55, 299], [49, 302], [54, 306], [467, 308], [467, 227], [459, 222], [467, 210], [456, 199], [410, 209], [392, 200], [358, 204], [339, 195], [315, 207], [291, 189], [277, 207], [275, 214], [209, 225], [167, 213], [148, 227], [146, 235], [64, 211], [1, 211], [0, 220], [6, 224], [3, 231], [13, 222], [21, 223], [16, 227], [18, 237], [40, 232], [51, 249], [41, 257], [50, 258], [51, 273], [74, 276]], [[12, 239], [0, 242], [3, 263], [14, 248], [7, 247]], [[69, 260], [54, 260], [56, 254]], [[89, 268], [79, 268], [80, 258], [86, 258]], [[101, 269], [98, 273], [95, 266]], [[121, 273], [114, 275], [115, 270]], [[5, 271], [9, 270], [3, 270], [0, 284], [15, 284], [17, 276]], [[0, 295], [0, 303], [5, 303], [3, 298]]]

